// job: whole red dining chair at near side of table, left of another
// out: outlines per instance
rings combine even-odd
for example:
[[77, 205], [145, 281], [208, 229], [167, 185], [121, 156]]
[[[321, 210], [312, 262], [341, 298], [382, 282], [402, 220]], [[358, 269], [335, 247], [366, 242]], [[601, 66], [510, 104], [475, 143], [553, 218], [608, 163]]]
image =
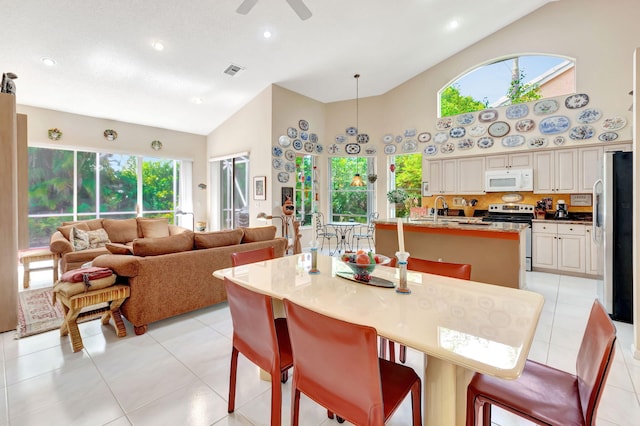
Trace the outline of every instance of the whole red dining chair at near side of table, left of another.
[[235, 409], [238, 353], [271, 374], [271, 426], [282, 419], [282, 386], [293, 366], [291, 342], [285, 318], [274, 318], [271, 298], [244, 288], [225, 277], [233, 322], [233, 350], [229, 378], [229, 413]]

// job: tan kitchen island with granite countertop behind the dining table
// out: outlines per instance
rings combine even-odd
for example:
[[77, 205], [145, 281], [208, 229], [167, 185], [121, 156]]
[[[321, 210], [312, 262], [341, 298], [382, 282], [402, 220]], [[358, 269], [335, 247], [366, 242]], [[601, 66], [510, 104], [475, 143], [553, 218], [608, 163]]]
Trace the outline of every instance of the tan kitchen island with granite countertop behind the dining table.
[[[397, 220], [378, 220], [376, 252], [394, 257], [398, 251]], [[468, 263], [471, 280], [511, 288], [526, 282], [526, 224], [403, 219], [405, 250], [411, 257]]]

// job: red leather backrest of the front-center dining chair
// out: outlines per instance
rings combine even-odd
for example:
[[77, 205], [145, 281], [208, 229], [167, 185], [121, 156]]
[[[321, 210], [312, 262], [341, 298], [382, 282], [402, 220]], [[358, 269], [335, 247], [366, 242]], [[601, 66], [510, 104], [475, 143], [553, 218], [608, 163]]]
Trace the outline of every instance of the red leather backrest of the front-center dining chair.
[[284, 300], [293, 386], [354, 424], [384, 423], [377, 333]]

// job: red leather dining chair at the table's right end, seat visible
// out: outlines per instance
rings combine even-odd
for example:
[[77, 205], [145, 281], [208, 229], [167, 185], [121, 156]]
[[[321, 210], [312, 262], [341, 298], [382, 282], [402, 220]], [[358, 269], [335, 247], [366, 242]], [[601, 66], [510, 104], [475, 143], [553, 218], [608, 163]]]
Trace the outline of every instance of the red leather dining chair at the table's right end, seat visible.
[[491, 424], [496, 405], [536, 424], [595, 425], [596, 411], [613, 361], [616, 328], [595, 300], [576, 360], [576, 375], [527, 360], [516, 380], [476, 373], [467, 388], [467, 426]]

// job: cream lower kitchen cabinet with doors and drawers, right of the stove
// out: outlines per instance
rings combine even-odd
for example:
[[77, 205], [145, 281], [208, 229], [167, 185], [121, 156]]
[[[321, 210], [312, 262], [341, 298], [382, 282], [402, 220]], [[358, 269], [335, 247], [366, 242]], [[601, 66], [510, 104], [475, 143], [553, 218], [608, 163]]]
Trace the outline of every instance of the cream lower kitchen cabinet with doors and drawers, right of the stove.
[[[583, 224], [534, 222], [531, 232], [533, 268], [594, 274], [592, 266], [587, 265], [587, 258], [591, 263], [592, 255], [587, 255], [585, 231]], [[591, 245], [588, 250], [592, 250]]]

